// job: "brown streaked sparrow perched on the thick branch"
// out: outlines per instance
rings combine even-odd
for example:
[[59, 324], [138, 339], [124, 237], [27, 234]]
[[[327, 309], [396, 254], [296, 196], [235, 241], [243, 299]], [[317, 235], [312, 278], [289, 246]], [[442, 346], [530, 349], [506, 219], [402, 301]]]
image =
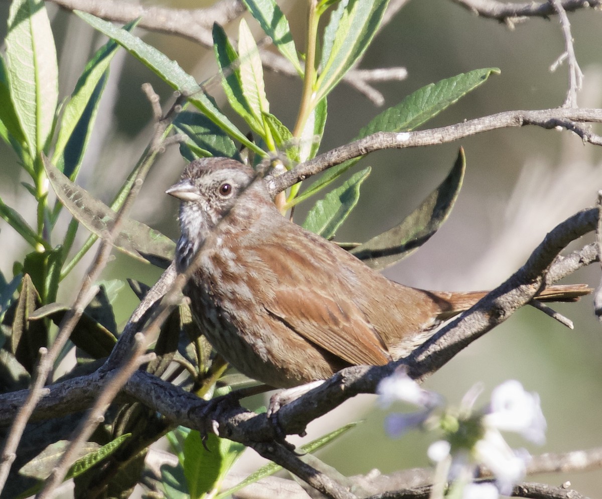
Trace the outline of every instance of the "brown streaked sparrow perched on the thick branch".
[[[194, 260], [184, 293], [196, 321], [229, 363], [276, 388], [407, 356], [442, 319], [485, 295], [388, 280], [284, 218], [265, 182], [231, 159], [191, 162], [167, 193], [182, 201], [176, 268]], [[572, 301], [588, 292], [552, 286], [540, 298]]]

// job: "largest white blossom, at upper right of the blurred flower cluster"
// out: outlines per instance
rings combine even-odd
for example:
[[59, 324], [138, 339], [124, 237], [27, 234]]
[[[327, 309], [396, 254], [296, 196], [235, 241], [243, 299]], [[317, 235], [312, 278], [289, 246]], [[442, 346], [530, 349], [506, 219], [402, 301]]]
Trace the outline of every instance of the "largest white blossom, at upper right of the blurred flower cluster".
[[545, 442], [547, 425], [539, 395], [526, 392], [516, 380], [506, 381], [491, 392], [491, 403], [483, 422], [488, 427], [519, 433], [535, 444]]

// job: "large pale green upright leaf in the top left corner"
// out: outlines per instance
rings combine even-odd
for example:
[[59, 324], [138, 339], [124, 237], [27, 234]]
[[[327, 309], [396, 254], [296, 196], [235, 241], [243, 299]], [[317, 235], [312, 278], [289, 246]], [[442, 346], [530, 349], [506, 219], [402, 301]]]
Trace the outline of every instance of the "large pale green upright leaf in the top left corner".
[[14, 0], [6, 58], [11, 98], [32, 158], [52, 131], [58, 102], [57, 51], [43, 0]]

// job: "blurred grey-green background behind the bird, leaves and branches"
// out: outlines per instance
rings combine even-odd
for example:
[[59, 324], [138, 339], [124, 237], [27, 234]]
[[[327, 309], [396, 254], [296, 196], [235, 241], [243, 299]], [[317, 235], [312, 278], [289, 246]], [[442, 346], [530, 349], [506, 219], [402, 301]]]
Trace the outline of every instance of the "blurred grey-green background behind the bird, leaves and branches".
[[[202, 6], [192, 0], [144, 3], [179, 8]], [[0, 19], [7, 18], [9, 4], [0, 2]], [[303, 48], [304, 5], [293, 1], [282, 5], [299, 50]], [[59, 53], [60, 92], [65, 96], [75, 86], [90, 54], [105, 40], [72, 14], [52, 4], [48, 8]], [[585, 72], [579, 104], [601, 107], [602, 12], [586, 9], [569, 14], [569, 19], [577, 60]], [[0, 34], [4, 38], [5, 23], [2, 24]], [[254, 22], [252, 28], [259, 37]], [[197, 80], [215, 75], [213, 54], [207, 49], [178, 37], [143, 30], [137, 34], [177, 60]], [[550, 65], [563, 51], [557, 17], [530, 19], [509, 30], [494, 20], [480, 19], [450, 0], [410, 1], [377, 35], [360, 65], [362, 69], [405, 66], [408, 78], [376, 84], [385, 96], [382, 108], [340, 84], [329, 97], [320, 151], [348, 142], [371, 118], [396, 105], [408, 93], [479, 67], [499, 67], [501, 74], [492, 75], [483, 86], [423, 128], [498, 111], [562, 105], [567, 69], [563, 65], [551, 72]], [[146, 67], [123, 51], [116, 56], [95, 137], [79, 177], [86, 189], [105, 202], [111, 201], [151, 138], [151, 107], [140, 90], [146, 81], [152, 83], [163, 102], [170, 102], [170, 89]], [[217, 78], [209, 81], [208, 89], [223, 104]], [[300, 81], [267, 74], [271, 111], [289, 127], [296, 118], [300, 93]], [[600, 129], [596, 131], [600, 133]], [[577, 210], [592, 206], [598, 189], [602, 189], [602, 149], [583, 145], [579, 137], [568, 131], [513, 128], [479, 134], [458, 143], [376, 152], [356, 166], [371, 165], [373, 172], [362, 186], [359, 206], [337, 239], [361, 242], [397, 224], [445, 177], [460, 145], [466, 152], [467, 173], [452, 215], [417, 253], [388, 269], [389, 278], [427, 289], [497, 286], [523, 265], [548, 231]], [[0, 144], [0, 165], [0, 196], [33, 221], [33, 207], [20, 186], [20, 181], [26, 179], [4, 143]], [[178, 237], [177, 203], [164, 195], [164, 190], [179, 177], [183, 166], [178, 148], [168, 149], [154, 166], [131, 214], [174, 239]], [[297, 222], [303, 221], [306, 209], [299, 209]], [[0, 230], [0, 270], [11, 277], [13, 262], [22, 259], [28, 248], [3, 221]], [[589, 235], [579, 243], [592, 240], [593, 235]], [[573, 249], [577, 247], [574, 245]], [[79, 265], [79, 274], [73, 274], [73, 292], [92, 256], [93, 252]], [[157, 268], [116, 254], [104, 277], [129, 277], [152, 285], [160, 274]], [[568, 281], [595, 287], [599, 280], [600, 268], [595, 265]], [[60, 300], [72, 299], [66, 289], [69, 286], [63, 286]], [[123, 324], [137, 300], [124, 288], [119, 304], [117, 322]], [[578, 304], [556, 308], [573, 319], [575, 330], [525, 307], [444, 366], [426, 381], [426, 388], [440, 392], [450, 403], [459, 403], [474, 383], [482, 381], [485, 404], [491, 388], [516, 378], [527, 391], [539, 393], [548, 421], [548, 442], [543, 448], [529, 447], [532, 453], [602, 445], [602, 336], [592, 300], [587, 297]], [[382, 424], [386, 413], [375, 406], [374, 400], [373, 396], [357, 397], [327, 415], [324, 421], [314, 422], [308, 428], [311, 439], [343, 422], [362, 421], [318, 456], [346, 475], [365, 474], [372, 468], [386, 473], [427, 465], [426, 448], [432, 436], [412, 432], [401, 439], [388, 438]], [[518, 440], [512, 443], [524, 445]], [[258, 462], [256, 454], [247, 451], [240, 469], [251, 470]], [[553, 485], [570, 480], [582, 494], [602, 497], [600, 470], [529, 480], [539, 479]]]

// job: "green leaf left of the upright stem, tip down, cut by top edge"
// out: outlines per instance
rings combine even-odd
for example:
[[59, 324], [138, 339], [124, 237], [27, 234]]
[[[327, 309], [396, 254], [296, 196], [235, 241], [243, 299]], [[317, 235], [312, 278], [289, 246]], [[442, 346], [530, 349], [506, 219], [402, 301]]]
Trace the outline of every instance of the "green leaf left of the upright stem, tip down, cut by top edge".
[[249, 12], [255, 17], [261, 29], [272, 39], [276, 48], [286, 57], [293, 67], [303, 75], [299, 64], [297, 49], [288, 27], [288, 20], [274, 0], [243, 0]]

